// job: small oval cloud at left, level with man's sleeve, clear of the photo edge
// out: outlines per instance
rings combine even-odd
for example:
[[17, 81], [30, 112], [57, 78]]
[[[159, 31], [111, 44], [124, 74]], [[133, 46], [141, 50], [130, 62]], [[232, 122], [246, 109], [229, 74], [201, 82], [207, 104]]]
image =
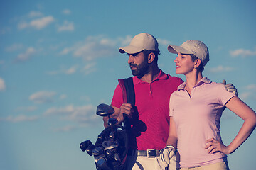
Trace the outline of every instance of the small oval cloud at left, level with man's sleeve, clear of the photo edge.
[[53, 102], [53, 97], [55, 94], [55, 91], [38, 91], [34, 94], [31, 94], [29, 100], [35, 103], [51, 103]]

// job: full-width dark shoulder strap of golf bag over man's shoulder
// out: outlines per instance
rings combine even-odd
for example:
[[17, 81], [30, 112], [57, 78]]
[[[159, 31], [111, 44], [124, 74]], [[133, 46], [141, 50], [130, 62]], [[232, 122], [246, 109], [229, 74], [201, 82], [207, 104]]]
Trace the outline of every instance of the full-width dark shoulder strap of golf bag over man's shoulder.
[[134, 83], [133, 83], [132, 77], [129, 77], [127, 79], [118, 79], [118, 81], [124, 96], [124, 103], [131, 103], [132, 106], [134, 106], [135, 91], [134, 91]]

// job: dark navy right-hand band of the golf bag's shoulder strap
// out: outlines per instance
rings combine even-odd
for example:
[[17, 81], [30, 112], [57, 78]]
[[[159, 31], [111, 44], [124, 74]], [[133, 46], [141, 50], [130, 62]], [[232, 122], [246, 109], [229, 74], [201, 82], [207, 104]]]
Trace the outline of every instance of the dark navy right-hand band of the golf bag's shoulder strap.
[[131, 103], [132, 106], [135, 105], [135, 91], [132, 77], [124, 79], [124, 86], [127, 93], [127, 103]]

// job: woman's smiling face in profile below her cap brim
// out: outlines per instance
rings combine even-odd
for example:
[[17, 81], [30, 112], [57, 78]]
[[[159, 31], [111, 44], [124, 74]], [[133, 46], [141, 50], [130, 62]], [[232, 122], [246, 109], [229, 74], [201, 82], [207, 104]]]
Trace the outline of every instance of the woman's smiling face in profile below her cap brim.
[[192, 61], [191, 55], [184, 55], [178, 52], [178, 56], [174, 60], [176, 63], [176, 74], [188, 74], [194, 69], [194, 62]]

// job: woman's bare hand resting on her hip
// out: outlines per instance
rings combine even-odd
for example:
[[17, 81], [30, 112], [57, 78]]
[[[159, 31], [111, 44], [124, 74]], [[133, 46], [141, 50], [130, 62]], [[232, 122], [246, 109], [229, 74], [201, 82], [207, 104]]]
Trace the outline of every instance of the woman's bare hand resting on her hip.
[[223, 152], [223, 154], [230, 154], [229, 147], [225, 146], [222, 142], [215, 140], [214, 138], [211, 138], [209, 140], [206, 140], [206, 147], [205, 149], [208, 149], [209, 154], [214, 154], [215, 152]]

